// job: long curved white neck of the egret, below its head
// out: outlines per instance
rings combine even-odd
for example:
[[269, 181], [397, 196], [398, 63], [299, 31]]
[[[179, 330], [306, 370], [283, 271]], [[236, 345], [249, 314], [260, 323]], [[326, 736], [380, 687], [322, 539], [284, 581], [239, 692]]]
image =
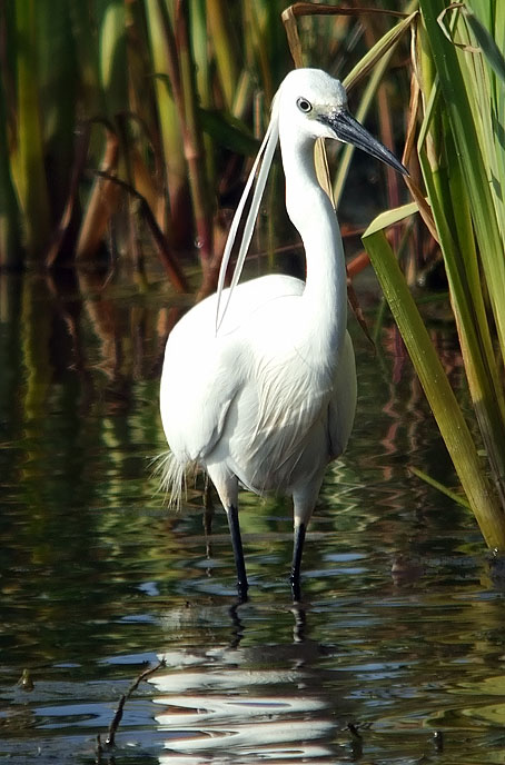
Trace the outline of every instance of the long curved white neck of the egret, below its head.
[[[287, 126], [286, 126], [287, 127]], [[335, 210], [316, 176], [314, 139], [280, 130], [286, 208], [305, 246], [301, 312], [315, 361], [337, 362], [347, 324], [347, 276]]]

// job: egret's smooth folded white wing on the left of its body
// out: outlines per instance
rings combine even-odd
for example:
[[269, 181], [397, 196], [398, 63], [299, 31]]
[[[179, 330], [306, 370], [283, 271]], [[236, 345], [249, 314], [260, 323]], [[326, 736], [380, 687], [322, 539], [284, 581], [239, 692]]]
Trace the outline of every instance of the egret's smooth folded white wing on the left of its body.
[[266, 304], [301, 291], [303, 282], [291, 277], [254, 279], [236, 288], [217, 336], [216, 296], [176, 325], [167, 341], [160, 399], [165, 434], [179, 460], [202, 461], [219, 441], [250, 370], [244, 327], [254, 326]]

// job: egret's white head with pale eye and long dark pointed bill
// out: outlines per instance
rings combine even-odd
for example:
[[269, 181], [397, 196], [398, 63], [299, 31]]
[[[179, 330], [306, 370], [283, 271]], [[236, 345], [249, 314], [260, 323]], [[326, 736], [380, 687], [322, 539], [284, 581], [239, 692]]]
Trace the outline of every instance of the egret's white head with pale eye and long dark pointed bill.
[[402, 175], [408, 175], [389, 149], [350, 115], [341, 82], [320, 69], [295, 69], [289, 72], [276, 101], [279, 119], [299, 136], [351, 143]]

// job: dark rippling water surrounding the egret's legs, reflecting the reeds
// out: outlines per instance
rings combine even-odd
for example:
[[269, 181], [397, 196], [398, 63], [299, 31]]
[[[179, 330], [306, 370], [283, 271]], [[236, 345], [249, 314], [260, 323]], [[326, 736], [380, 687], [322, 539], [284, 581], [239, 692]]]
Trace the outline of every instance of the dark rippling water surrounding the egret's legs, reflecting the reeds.
[[[356, 428], [310, 527], [304, 606], [288, 504], [244, 495], [235, 608], [224, 514], [206, 539], [199, 493], [169, 514], [151, 476], [161, 282], [0, 290], [0, 761], [505, 762], [504, 579], [473, 517], [408, 470], [456, 483], [390, 327], [374, 356], [353, 325]], [[459, 387], [450, 330], [433, 332]]]

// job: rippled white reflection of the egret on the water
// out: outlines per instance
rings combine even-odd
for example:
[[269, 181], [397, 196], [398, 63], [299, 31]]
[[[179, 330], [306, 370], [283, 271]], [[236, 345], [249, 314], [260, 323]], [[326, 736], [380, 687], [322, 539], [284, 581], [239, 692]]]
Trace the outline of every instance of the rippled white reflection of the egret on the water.
[[[274, 614], [275, 606], [271, 609]], [[341, 755], [341, 745], [334, 743], [338, 731], [353, 749], [357, 735], [347, 731], [347, 721], [338, 721], [338, 699], [326, 692], [319, 666], [337, 648], [307, 637], [304, 607], [294, 604], [289, 610], [291, 643], [242, 647], [247, 626], [253, 627], [257, 616], [254, 607], [238, 602], [228, 612], [228, 645], [164, 655], [172, 668], [149, 679], [157, 688], [154, 702], [161, 707], [155, 717], [167, 734], [160, 763], [334, 763], [338, 751]], [[199, 622], [222, 618], [221, 607], [204, 614], [194, 606], [189, 612]], [[180, 618], [188, 618], [187, 608], [167, 615], [167, 626], [176, 627]], [[346, 705], [348, 714], [348, 701]]]

